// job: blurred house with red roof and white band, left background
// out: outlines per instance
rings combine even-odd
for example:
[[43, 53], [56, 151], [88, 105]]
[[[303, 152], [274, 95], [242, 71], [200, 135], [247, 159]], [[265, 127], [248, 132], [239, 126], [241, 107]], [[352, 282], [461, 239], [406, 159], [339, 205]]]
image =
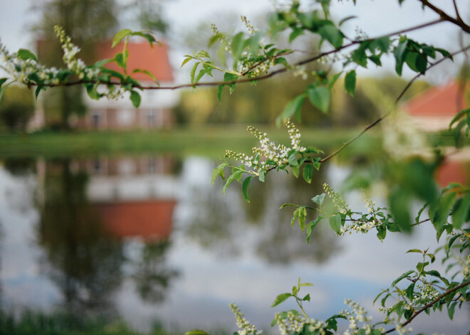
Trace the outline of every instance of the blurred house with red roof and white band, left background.
[[[51, 43], [39, 40], [38, 55], [47, 55]], [[95, 60], [114, 58], [122, 52], [123, 43], [111, 48], [112, 41], [95, 43]], [[167, 44], [154, 44], [153, 47], [145, 39], [135, 38], [127, 43], [129, 58], [127, 59], [127, 74], [145, 86], [172, 85], [174, 78], [169, 63], [169, 48]], [[80, 57], [80, 53], [78, 54]], [[41, 58], [40, 58], [41, 59]], [[93, 63], [92, 60], [87, 63]], [[115, 63], [108, 63], [106, 68], [123, 73]], [[147, 70], [157, 78], [158, 83], [145, 73], [132, 73], [133, 70]], [[88, 112], [81, 117], [69, 119], [72, 127], [80, 129], [158, 129], [169, 127], [174, 123], [171, 109], [177, 103], [178, 93], [174, 90], [137, 90], [141, 96], [139, 108], [132, 106], [128, 95], [122, 99], [92, 100], [85, 92], [84, 101]], [[40, 106], [41, 104], [38, 104]], [[40, 107], [41, 108], [41, 107]], [[33, 117], [33, 127], [43, 127], [46, 124], [44, 112], [38, 110]]]

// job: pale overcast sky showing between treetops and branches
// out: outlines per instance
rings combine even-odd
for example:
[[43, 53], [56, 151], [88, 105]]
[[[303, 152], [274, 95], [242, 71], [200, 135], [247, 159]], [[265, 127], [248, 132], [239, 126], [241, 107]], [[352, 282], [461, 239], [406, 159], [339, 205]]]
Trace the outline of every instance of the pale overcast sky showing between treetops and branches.
[[[406, 0], [401, 7], [397, 2], [397, 0], [357, 0], [358, 4], [354, 6], [352, 0], [333, 0], [332, 12], [333, 16], [338, 19], [350, 15], [357, 16], [345, 27], [352, 36], [357, 26], [373, 37], [437, 18], [432, 11], [422, 11], [417, 0]], [[454, 14], [451, 0], [432, 2]], [[38, 17], [29, 9], [30, 4], [31, 0], [0, 0], [0, 41], [11, 51], [19, 48], [33, 48], [33, 38], [28, 32], [28, 27], [37, 21]], [[457, 0], [457, 4], [461, 10], [461, 16], [470, 19], [470, 1]], [[223, 26], [223, 20], [229, 14], [234, 16], [243, 14], [249, 18], [256, 18], [272, 8], [273, 0], [168, 0], [164, 14], [172, 25], [172, 36], [179, 39], [184, 32], [200, 23], [207, 24], [207, 29], [209, 29], [210, 23]], [[457, 48], [456, 28], [449, 23], [439, 23], [436, 26], [409, 33], [409, 36], [434, 46], [449, 48], [449, 50]], [[184, 54], [184, 51], [181, 50], [181, 53]], [[179, 59], [174, 60], [175, 64], [179, 62]], [[392, 62], [387, 66], [391, 67], [391, 64]]]

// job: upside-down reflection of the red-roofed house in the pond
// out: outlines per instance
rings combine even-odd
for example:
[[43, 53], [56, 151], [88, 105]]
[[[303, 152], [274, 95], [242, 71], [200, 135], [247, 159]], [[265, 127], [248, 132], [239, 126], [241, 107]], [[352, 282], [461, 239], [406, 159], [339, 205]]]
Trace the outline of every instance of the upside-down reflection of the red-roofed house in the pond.
[[70, 216], [80, 227], [99, 223], [117, 238], [167, 240], [177, 203], [177, 179], [171, 174], [174, 165], [174, 159], [152, 156], [39, 161], [38, 176], [48, 183], [48, 190], [56, 194], [59, 187], [65, 196], [73, 194], [70, 199], [59, 196], [58, 204], [44, 201], [51, 198], [45, 194], [39, 198], [45, 208], [60, 208], [66, 200], [73, 208]]

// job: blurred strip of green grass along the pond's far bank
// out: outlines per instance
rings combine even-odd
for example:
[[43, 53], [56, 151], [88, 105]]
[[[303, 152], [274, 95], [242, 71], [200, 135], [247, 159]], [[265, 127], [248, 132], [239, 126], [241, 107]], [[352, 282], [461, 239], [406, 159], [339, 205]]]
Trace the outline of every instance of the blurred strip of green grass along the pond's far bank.
[[[285, 128], [259, 127], [276, 142], [289, 144]], [[301, 129], [302, 143], [325, 152], [339, 147], [358, 129]], [[368, 135], [367, 135], [368, 136]], [[37, 132], [0, 134], [0, 158], [41, 156], [44, 158], [87, 157], [98, 154], [197, 154], [224, 156], [226, 149], [251, 151], [256, 138], [244, 126], [179, 127], [152, 132]]]

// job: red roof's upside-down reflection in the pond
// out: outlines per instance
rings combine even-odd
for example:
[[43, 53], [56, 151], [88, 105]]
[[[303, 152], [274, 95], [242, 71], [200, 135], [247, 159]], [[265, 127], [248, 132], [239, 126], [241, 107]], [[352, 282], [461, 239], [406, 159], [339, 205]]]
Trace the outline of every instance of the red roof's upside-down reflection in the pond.
[[169, 238], [176, 201], [126, 201], [95, 203], [103, 226], [117, 237], [144, 240]]

